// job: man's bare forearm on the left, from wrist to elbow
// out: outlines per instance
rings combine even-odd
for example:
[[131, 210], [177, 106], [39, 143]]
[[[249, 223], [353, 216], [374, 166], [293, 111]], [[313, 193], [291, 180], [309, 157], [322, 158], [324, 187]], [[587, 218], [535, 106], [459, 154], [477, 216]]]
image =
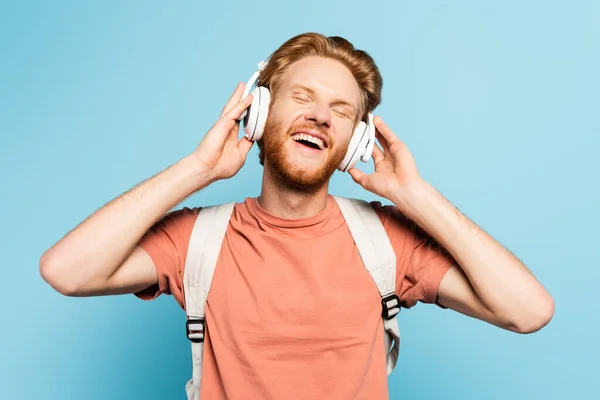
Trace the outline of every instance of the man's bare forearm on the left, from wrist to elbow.
[[186, 157], [93, 213], [50, 248], [40, 268], [62, 286], [77, 288], [110, 278], [145, 232], [208, 179]]

